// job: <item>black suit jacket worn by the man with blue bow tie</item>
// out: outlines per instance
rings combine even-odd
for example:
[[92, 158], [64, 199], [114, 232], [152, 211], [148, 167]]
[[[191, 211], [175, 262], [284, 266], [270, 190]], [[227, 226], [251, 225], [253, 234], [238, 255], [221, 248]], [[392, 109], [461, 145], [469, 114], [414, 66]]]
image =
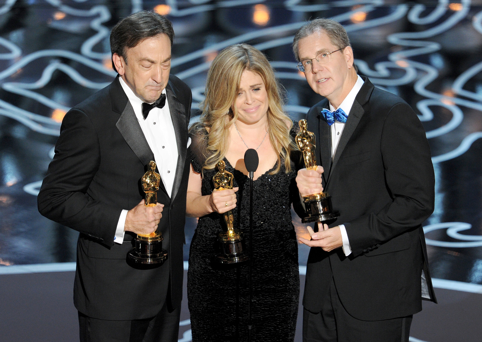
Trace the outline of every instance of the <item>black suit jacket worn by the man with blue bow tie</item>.
[[303, 305], [320, 312], [333, 275], [348, 313], [374, 321], [422, 310], [422, 269], [436, 302], [421, 226], [434, 209], [435, 178], [425, 130], [413, 109], [362, 78], [333, 160], [331, 128], [321, 115], [328, 100], [307, 115], [324, 168], [324, 191], [341, 214], [329, 227], [345, 225], [352, 253], [311, 248]]

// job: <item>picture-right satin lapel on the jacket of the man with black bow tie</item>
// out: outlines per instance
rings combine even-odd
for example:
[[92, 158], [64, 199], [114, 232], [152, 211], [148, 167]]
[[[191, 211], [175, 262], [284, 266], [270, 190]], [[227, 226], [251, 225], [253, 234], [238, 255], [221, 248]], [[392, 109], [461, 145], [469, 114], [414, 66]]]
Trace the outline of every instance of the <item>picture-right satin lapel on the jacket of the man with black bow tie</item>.
[[174, 133], [176, 135], [177, 143], [177, 165], [176, 175], [174, 177], [173, 191], [171, 194], [171, 201], [176, 197], [184, 171], [184, 164], [186, 163], [187, 154], [187, 126], [186, 126], [186, 112], [181, 102], [174, 96], [174, 92], [166, 87], [167, 104], [171, 112], [171, 120], [173, 121]]

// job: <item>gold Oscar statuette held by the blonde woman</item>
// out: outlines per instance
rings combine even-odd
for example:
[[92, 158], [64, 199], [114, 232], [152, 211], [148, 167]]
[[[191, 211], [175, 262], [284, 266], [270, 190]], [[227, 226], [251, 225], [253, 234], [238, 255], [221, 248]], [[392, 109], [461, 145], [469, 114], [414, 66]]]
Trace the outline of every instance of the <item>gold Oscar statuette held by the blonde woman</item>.
[[[232, 189], [234, 176], [226, 171], [226, 164], [223, 160], [217, 163], [219, 171], [213, 176], [214, 191]], [[222, 254], [216, 256], [219, 263], [236, 263], [249, 259], [244, 247], [242, 233], [234, 229], [234, 218], [232, 210], [228, 210], [223, 215], [223, 221], [227, 231], [219, 233], [219, 244]]]

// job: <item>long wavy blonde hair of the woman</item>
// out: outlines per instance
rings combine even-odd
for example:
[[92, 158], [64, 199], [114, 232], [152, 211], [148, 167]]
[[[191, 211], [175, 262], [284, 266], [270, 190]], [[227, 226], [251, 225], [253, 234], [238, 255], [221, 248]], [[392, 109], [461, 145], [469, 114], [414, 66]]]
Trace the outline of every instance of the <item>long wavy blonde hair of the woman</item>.
[[203, 169], [213, 169], [217, 162], [223, 159], [229, 147], [229, 128], [238, 119], [236, 96], [244, 70], [252, 71], [263, 79], [268, 92], [268, 133], [271, 146], [278, 154], [276, 169], [280, 171], [281, 159], [284, 160], [286, 172], [291, 171], [290, 153], [296, 146], [290, 137], [290, 118], [282, 109], [283, 100], [281, 90], [274, 70], [266, 56], [248, 44], [236, 44], [225, 48], [214, 58], [206, 81], [206, 96], [200, 103], [202, 110], [200, 123], [190, 127], [191, 133], [199, 137], [203, 129], [208, 131], [207, 157]]

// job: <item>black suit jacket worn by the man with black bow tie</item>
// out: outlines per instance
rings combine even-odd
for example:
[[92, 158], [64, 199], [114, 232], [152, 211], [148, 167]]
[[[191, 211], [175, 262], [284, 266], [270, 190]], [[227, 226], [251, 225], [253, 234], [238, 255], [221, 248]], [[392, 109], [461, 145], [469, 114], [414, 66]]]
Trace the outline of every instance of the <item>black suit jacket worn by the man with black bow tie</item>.
[[120, 213], [144, 198], [140, 178], [154, 160], [119, 79], [70, 109], [62, 121], [38, 206], [43, 216], [80, 232], [74, 304], [90, 317], [153, 317], [164, 304], [169, 281], [173, 307], [181, 303], [191, 91], [170, 75], [166, 93], [178, 159], [172, 194], [162, 182], [157, 192], [165, 205], [158, 229], [168, 259], [154, 269], [127, 263], [134, 233], [126, 232], [123, 244], [114, 243]]

